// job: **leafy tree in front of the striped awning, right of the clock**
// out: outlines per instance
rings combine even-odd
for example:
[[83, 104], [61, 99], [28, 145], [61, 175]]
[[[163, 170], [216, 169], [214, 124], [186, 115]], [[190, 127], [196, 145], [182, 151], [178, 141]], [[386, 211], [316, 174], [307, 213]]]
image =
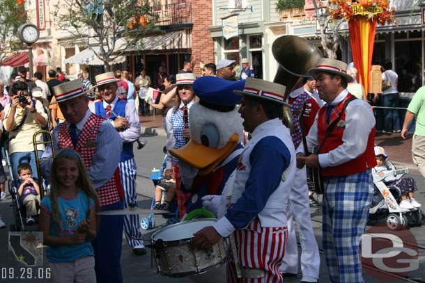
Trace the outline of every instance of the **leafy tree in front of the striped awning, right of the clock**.
[[109, 63], [126, 49], [141, 45], [146, 31], [155, 29], [157, 16], [151, 13], [148, 1], [60, 0], [54, 17], [59, 29], [68, 31], [76, 40], [91, 38], [98, 42], [98, 52], [91, 44], [88, 48], [109, 71]]

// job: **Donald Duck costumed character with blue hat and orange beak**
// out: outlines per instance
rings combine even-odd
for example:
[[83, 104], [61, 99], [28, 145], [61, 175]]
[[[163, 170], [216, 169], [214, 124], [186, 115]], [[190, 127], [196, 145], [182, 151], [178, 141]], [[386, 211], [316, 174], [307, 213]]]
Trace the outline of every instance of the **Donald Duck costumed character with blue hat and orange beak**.
[[210, 202], [212, 195], [221, 195], [236, 168], [243, 148], [243, 127], [236, 106], [241, 97], [233, 90], [243, 90], [244, 86], [245, 81], [216, 76], [202, 76], [193, 83], [199, 102], [190, 108], [190, 141], [179, 149], [169, 149], [178, 158], [181, 190], [192, 193], [185, 202], [187, 213]]

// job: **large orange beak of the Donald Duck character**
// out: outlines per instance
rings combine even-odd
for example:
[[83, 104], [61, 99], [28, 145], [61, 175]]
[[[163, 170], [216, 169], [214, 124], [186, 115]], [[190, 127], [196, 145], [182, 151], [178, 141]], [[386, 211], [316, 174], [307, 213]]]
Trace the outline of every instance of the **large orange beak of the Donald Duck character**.
[[190, 140], [184, 147], [169, 149], [169, 152], [192, 167], [198, 168], [198, 175], [205, 176], [214, 170], [217, 165], [235, 149], [238, 143], [238, 134], [233, 134], [226, 145], [221, 149], [199, 145], [199, 143]]

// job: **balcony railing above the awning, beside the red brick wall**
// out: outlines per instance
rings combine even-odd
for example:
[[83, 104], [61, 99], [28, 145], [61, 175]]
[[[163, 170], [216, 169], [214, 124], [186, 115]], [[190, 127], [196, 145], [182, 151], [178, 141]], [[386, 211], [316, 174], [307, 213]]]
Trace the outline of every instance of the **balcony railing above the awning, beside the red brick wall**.
[[133, 17], [130, 29], [144, 26], [150, 20], [155, 21], [155, 26], [168, 26], [170, 24], [192, 23], [192, 3], [171, 3], [153, 6], [153, 15]]

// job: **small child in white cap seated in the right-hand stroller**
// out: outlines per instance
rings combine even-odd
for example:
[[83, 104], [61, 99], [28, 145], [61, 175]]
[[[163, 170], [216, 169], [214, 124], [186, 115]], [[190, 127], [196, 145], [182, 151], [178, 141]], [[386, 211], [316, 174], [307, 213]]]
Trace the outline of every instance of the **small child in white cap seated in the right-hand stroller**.
[[[374, 170], [376, 171], [376, 174], [378, 174], [380, 177], [383, 177], [385, 172], [391, 170], [391, 168], [387, 167], [387, 164], [385, 164], [385, 161], [387, 161], [388, 156], [385, 154], [385, 150], [383, 147], [375, 147], [375, 156], [376, 156], [376, 167]], [[401, 192], [401, 202], [399, 206], [402, 209], [414, 209], [417, 207], [421, 207], [422, 204], [419, 204], [417, 200], [415, 200], [414, 197], [414, 191], [417, 191], [416, 181], [412, 177], [404, 177], [401, 179], [396, 179], [394, 175], [390, 175], [388, 177], [385, 177], [384, 183], [386, 185], [393, 185], [400, 189]]]

